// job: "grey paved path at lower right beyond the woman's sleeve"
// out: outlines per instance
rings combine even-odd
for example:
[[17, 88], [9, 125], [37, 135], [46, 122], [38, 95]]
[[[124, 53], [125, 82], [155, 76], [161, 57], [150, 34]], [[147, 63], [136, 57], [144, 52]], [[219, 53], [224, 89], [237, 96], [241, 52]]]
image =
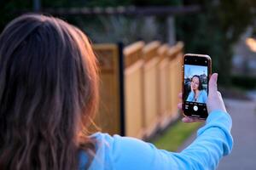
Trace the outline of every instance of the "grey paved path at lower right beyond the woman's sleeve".
[[[224, 157], [218, 170], [256, 169], [256, 100], [224, 99], [233, 120], [234, 148], [230, 156]], [[195, 139], [195, 133], [183, 144], [183, 150]]]

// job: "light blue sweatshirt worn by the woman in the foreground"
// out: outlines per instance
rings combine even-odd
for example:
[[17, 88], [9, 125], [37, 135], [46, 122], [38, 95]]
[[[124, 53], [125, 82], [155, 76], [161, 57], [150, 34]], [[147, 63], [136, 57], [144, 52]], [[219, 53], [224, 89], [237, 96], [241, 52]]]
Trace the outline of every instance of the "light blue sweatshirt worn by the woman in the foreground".
[[[90, 169], [215, 169], [232, 150], [231, 126], [229, 114], [212, 111], [206, 125], [197, 131], [195, 141], [180, 153], [159, 150], [139, 139], [94, 133], [91, 138], [97, 140], [96, 156]], [[84, 169], [87, 160], [85, 152], [81, 152], [79, 169]]]

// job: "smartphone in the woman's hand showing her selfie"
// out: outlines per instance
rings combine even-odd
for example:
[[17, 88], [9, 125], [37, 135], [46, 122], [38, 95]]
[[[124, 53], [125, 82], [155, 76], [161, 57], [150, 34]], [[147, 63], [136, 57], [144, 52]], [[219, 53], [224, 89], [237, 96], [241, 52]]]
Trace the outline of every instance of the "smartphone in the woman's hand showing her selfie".
[[212, 59], [205, 54], [183, 56], [183, 115], [207, 119], [209, 77]]

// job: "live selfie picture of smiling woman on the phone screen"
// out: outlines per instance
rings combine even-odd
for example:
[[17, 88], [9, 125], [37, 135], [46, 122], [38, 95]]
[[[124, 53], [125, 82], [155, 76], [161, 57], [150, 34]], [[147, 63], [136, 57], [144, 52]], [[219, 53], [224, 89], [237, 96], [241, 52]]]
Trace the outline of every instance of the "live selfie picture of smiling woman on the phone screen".
[[184, 65], [184, 95], [188, 102], [207, 103], [207, 66]]

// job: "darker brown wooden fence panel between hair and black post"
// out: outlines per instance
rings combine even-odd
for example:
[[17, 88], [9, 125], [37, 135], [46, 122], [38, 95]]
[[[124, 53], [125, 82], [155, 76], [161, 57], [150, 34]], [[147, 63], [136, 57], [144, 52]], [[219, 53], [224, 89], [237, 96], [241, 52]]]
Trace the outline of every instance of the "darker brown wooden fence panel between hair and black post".
[[95, 122], [103, 132], [121, 133], [119, 94], [119, 47], [116, 44], [93, 46], [100, 63], [100, 105]]

